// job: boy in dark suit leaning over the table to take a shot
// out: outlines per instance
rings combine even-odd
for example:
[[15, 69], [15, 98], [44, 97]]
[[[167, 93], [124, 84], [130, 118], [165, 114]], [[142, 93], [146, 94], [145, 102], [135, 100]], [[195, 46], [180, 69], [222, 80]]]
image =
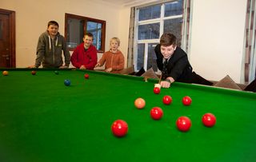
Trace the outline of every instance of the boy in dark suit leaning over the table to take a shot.
[[187, 55], [177, 46], [174, 34], [162, 34], [160, 44], [156, 45], [154, 52], [157, 56], [158, 69], [162, 71], [161, 87], [169, 88], [174, 81], [213, 85], [212, 82], [192, 72]]

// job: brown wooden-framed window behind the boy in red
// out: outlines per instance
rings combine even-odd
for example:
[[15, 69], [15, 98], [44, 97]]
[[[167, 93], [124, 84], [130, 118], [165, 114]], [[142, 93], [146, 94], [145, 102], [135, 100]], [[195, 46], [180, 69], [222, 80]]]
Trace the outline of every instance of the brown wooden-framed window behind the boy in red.
[[86, 18], [74, 14], [65, 14], [65, 38], [70, 50], [82, 43], [85, 33], [94, 35], [94, 42], [98, 52], [105, 51], [106, 21], [95, 18]]

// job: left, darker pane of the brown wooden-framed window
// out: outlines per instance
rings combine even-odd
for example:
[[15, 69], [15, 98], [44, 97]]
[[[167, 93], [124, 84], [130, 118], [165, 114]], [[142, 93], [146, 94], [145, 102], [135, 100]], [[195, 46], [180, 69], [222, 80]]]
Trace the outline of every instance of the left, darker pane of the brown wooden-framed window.
[[82, 43], [84, 23], [83, 20], [68, 18], [66, 44], [69, 48], [75, 48]]

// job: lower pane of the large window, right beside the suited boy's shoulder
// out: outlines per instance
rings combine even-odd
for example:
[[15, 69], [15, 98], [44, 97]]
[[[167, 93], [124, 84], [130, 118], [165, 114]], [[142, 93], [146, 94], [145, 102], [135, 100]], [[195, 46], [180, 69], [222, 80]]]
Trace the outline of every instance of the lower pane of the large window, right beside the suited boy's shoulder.
[[149, 43], [148, 44], [148, 56], [147, 56], [147, 66], [146, 69], [150, 69], [153, 67], [154, 71], [158, 71], [158, 65], [157, 65], [157, 57], [154, 53], [154, 47], [158, 45], [158, 43]]

